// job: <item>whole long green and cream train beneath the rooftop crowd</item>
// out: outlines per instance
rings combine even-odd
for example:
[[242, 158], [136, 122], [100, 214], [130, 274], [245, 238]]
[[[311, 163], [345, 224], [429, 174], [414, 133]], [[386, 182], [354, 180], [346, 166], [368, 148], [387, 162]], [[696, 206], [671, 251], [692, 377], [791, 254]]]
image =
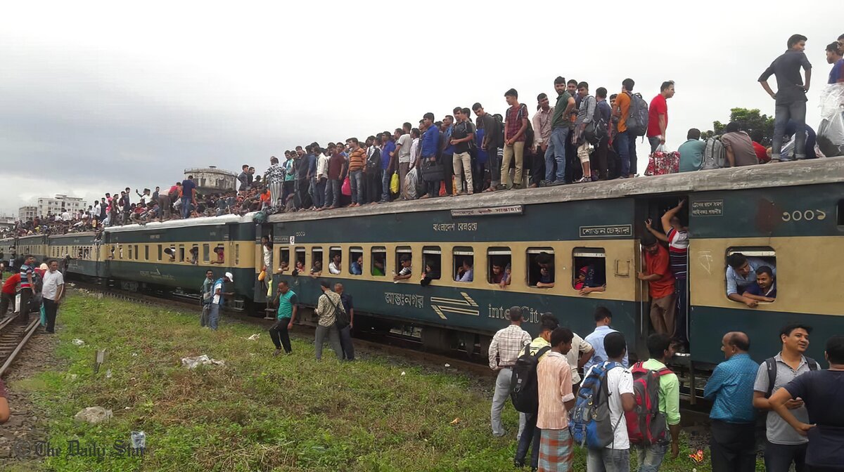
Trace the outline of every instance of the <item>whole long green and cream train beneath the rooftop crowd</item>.
[[[70, 255], [71, 275], [138, 291], [197, 292], [206, 270], [230, 271], [231, 305], [257, 316], [272, 310], [268, 300], [280, 280], [299, 295], [306, 320], [313, 319], [320, 282], [342, 282], [354, 297], [355, 330], [412, 332], [425, 349], [482, 357], [495, 331], [509, 323], [512, 306], [522, 308], [523, 326], [533, 335], [541, 314], [550, 312], [582, 336], [594, 329], [595, 308], [604, 306], [630, 354], [647, 357], [653, 329], [647, 282], [636, 277], [644, 264], [640, 237], [647, 219], [658, 222], [680, 200], [690, 231], [690, 349], [682, 362], [706, 369], [722, 361], [728, 330], [748, 333], [750, 353], [761, 361], [780, 349], [779, 329], [789, 322], [814, 327], [809, 355], [822, 359], [825, 335], [844, 332], [835, 275], [844, 266], [841, 158], [323, 212], [133, 224], [99, 235], [4, 239], [0, 249], [8, 255], [16, 246], [18, 255], [39, 259]], [[272, 242], [268, 266], [264, 237]], [[726, 259], [735, 252], [776, 266], [775, 302], [748, 308], [727, 298]], [[335, 256], [340, 273], [331, 274]], [[403, 257], [412, 276], [395, 282], [391, 272], [401, 270]], [[536, 287], [539, 257], [551, 258], [554, 287]], [[317, 261], [322, 274], [311, 276]], [[473, 280], [457, 282], [467, 261]], [[439, 273], [421, 284], [425, 266]], [[509, 286], [493, 283], [493, 266], [510, 267]], [[582, 266], [605, 283], [603, 292], [578, 293], [573, 281]]]

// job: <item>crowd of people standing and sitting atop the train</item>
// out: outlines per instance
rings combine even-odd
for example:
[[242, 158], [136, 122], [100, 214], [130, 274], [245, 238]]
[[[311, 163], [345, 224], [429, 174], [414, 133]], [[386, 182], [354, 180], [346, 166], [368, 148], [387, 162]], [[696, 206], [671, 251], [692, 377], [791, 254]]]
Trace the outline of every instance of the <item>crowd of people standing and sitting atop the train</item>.
[[[716, 157], [715, 165], [723, 167], [819, 157], [815, 132], [805, 122], [812, 67], [803, 52], [805, 45], [805, 36], [792, 35], [787, 51], [758, 79], [776, 102], [771, 146], [762, 144], [759, 130], [749, 135], [738, 122], [728, 123], [717, 141], [701, 141], [701, 131], [693, 128], [678, 148], [679, 172], [708, 168], [711, 163], [705, 156], [717, 153], [722, 157]], [[827, 83], [844, 83], [842, 45], [844, 35], [826, 46], [826, 60], [832, 64]], [[776, 93], [767, 82], [771, 75], [776, 77]], [[116, 224], [257, 211], [320, 211], [631, 179], [639, 168], [636, 140], [647, 137], [651, 153], [665, 143], [673, 81], [663, 82], [649, 105], [632, 78], [622, 80], [614, 94], [573, 78], [557, 77], [553, 86], [553, 103], [548, 94], [538, 94], [533, 115], [511, 88], [504, 94], [503, 115], [490, 113], [491, 107], [480, 103], [471, 109], [457, 106], [441, 120], [429, 112], [417, 126], [405, 122], [362, 141], [349, 137], [325, 146], [318, 142], [297, 146], [284, 152], [284, 160], [270, 158], [263, 176], [244, 164], [236, 190], [202, 195], [192, 176], [168, 190], [127, 187], [106, 193], [77, 214], [35, 217], [0, 235], [91, 231]], [[793, 141], [787, 153], [782, 153], [784, 140]]]

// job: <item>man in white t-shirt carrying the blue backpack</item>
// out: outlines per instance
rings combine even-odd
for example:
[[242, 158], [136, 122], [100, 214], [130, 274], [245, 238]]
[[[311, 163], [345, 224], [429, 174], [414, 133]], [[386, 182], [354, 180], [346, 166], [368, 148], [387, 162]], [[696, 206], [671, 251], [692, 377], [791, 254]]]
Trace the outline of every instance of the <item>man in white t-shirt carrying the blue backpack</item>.
[[[633, 396], [633, 374], [622, 365], [627, 354], [625, 336], [614, 331], [604, 336], [603, 349], [607, 353], [607, 363], [615, 367], [607, 371], [607, 390], [609, 391], [609, 421], [614, 428], [613, 442], [603, 449], [587, 449], [587, 472], [629, 472], [630, 438], [627, 437], [627, 421], [624, 412], [636, 408]], [[594, 366], [593, 366], [594, 367]], [[589, 376], [589, 372], [586, 376]]]

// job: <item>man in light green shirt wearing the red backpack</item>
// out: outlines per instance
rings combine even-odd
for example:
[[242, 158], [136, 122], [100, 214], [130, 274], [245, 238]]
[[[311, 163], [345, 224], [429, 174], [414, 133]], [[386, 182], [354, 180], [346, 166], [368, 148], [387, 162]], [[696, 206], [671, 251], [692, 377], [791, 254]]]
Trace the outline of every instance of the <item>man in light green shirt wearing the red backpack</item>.
[[[680, 382], [677, 374], [671, 372], [665, 366], [665, 362], [668, 362], [668, 359], [674, 356], [674, 346], [671, 343], [671, 338], [661, 333], [647, 336], [646, 345], [651, 358], [645, 362], [639, 362], [633, 367], [634, 383], [637, 382], [637, 378], [640, 378], [642, 372], [652, 371], [657, 373], [659, 378], [657, 389], [659, 414], [663, 416], [664, 424], [668, 425], [668, 431], [671, 433], [671, 459], [677, 459], [680, 450]], [[640, 400], [640, 398], [636, 398], [636, 403], [638, 404]], [[647, 413], [647, 411], [644, 411], [644, 413]], [[652, 424], [655, 423], [656, 421], [652, 422]], [[639, 424], [641, 424], [641, 421]], [[628, 421], [627, 428], [630, 432], [630, 421]], [[643, 433], [657, 440], [644, 445], [637, 444], [636, 442], [640, 441], [630, 437], [630, 442], [636, 445], [639, 472], [657, 472], [659, 466], [663, 464], [663, 458], [668, 450], [668, 437], [655, 437], [652, 432]], [[662, 433], [664, 433], [664, 430]]]

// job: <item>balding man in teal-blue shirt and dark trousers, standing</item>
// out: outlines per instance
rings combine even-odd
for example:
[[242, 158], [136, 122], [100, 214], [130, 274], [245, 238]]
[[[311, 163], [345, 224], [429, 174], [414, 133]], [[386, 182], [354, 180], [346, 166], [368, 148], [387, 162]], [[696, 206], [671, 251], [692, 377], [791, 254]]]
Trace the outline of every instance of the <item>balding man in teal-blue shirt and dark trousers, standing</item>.
[[753, 472], [756, 469], [756, 410], [753, 385], [759, 364], [750, 358], [748, 335], [724, 335], [721, 350], [727, 360], [715, 367], [703, 396], [713, 400], [709, 414], [712, 472]]

